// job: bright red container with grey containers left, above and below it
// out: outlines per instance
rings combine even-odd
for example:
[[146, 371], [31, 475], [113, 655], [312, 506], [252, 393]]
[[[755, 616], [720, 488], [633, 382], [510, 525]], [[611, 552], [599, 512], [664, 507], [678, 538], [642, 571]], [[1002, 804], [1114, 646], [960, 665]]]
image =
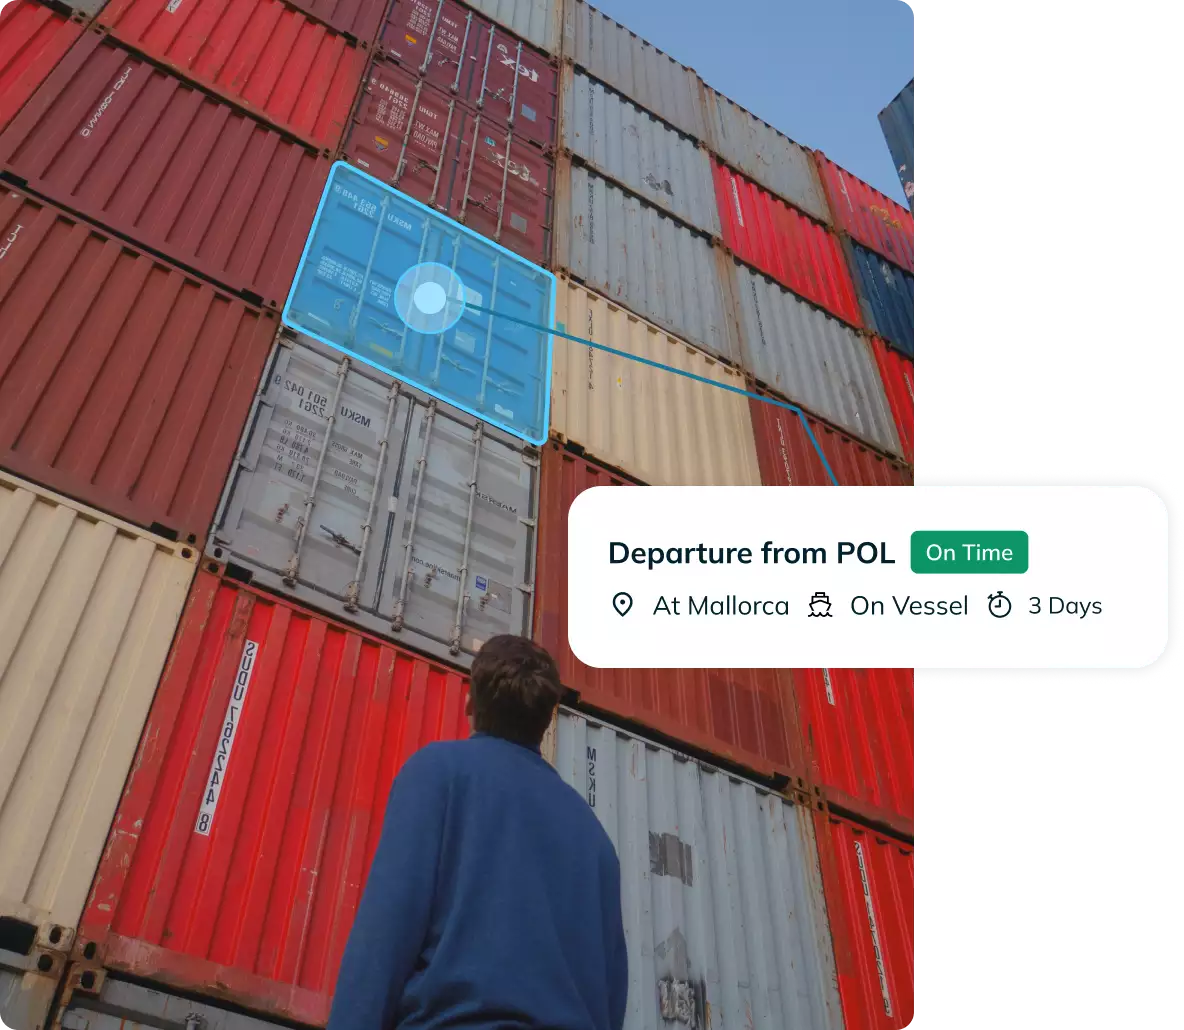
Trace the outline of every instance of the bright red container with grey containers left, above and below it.
[[726, 165], [713, 161], [713, 167], [727, 247], [799, 296], [862, 328], [855, 281], [838, 237]]

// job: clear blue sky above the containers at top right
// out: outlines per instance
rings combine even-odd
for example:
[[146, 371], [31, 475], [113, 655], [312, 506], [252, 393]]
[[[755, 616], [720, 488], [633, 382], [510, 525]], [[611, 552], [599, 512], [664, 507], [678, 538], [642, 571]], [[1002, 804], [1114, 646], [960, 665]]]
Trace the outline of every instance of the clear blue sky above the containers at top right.
[[900, 204], [877, 115], [913, 77], [901, 0], [593, 0], [708, 85]]

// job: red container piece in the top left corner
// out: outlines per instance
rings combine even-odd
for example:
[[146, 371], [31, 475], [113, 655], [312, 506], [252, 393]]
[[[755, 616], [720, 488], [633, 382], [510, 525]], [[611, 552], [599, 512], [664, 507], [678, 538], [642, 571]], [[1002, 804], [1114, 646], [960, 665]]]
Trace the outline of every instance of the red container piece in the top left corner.
[[34, 0], [0, 8], [0, 130], [83, 33], [83, 22]]

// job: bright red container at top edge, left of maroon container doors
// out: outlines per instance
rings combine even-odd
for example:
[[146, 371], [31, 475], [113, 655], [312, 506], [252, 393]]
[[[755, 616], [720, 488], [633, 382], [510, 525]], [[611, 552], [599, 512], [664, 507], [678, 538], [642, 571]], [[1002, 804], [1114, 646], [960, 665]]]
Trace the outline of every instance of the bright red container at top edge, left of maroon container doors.
[[335, 150], [369, 54], [285, 0], [108, 0], [96, 24], [314, 147]]

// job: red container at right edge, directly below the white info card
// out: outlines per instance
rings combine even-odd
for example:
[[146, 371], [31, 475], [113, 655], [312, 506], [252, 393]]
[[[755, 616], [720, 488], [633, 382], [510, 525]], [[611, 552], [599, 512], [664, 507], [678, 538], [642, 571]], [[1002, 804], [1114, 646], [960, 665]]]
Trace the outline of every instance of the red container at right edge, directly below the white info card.
[[913, 835], [913, 670], [794, 669], [811, 780], [834, 805]]

